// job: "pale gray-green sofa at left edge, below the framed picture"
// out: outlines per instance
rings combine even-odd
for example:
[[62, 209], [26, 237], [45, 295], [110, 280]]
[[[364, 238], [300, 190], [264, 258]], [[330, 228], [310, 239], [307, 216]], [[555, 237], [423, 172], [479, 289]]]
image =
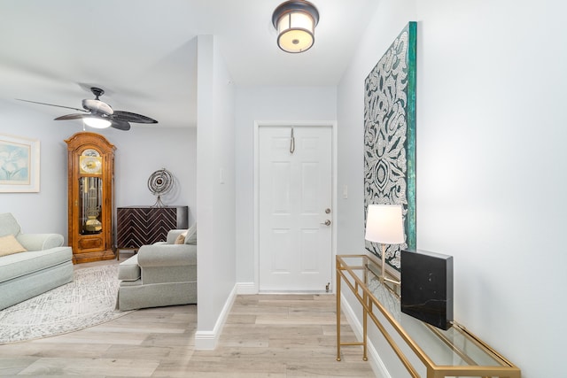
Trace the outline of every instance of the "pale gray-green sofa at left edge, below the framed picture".
[[22, 234], [12, 213], [0, 214], [0, 237], [27, 251], [0, 256], [0, 310], [73, 281], [73, 250], [58, 234]]

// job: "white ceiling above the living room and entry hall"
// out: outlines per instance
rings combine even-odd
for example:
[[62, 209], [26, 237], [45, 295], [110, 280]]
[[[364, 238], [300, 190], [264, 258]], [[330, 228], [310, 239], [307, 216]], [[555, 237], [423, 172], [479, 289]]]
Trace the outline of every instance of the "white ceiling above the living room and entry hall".
[[[81, 108], [89, 87], [114, 110], [195, 126], [196, 35], [214, 35], [236, 85], [335, 85], [376, 0], [312, 0], [315, 45], [276, 46], [272, 12], [283, 0], [1, 0], [0, 100], [46, 119]], [[189, 121], [188, 121], [189, 120]], [[75, 122], [80, 120], [53, 121]]]

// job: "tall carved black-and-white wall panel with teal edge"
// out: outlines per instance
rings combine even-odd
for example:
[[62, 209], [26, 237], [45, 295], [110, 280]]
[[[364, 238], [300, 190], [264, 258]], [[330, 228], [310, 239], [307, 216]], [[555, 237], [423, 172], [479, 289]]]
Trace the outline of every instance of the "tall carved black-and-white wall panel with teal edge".
[[364, 81], [364, 218], [369, 204], [402, 205], [406, 243], [385, 250], [398, 271], [400, 250], [416, 249], [416, 35], [409, 22]]

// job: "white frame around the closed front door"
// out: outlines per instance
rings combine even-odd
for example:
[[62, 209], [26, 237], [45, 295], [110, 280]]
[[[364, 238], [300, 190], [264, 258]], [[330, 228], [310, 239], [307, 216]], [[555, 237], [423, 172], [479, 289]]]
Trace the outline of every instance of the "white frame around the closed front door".
[[337, 255], [337, 121], [254, 121], [254, 291], [260, 292], [260, 127], [330, 127], [331, 128], [331, 279], [330, 292], [335, 293], [337, 282], [335, 256]]

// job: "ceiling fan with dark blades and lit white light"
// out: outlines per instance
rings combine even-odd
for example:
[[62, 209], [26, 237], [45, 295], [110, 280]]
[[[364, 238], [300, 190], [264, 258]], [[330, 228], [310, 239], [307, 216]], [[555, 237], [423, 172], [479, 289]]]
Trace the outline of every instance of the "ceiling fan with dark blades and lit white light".
[[114, 111], [109, 104], [102, 102], [98, 98], [99, 96], [105, 94], [105, 91], [103, 89], [97, 87], [91, 87], [90, 91], [92, 92], [93, 95], [95, 95], [95, 99], [82, 100], [82, 109], [72, 108], [63, 105], [38, 103], [36, 101], [22, 100], [20, 98], [18, 98], [18, 100], [26, 101], [27, 103], [57, 106], [59, 108], [73, 109], [75, 111], [85, 112], [86, 114], [75, 113], [75, 114], [63, 115], [61, 117], [56, 118], [55, 120], [83, 120], [83, 122], [87, 126], [96, 127], [96, 128], [114, 127], [119, 130], [126, 131], [130, 129], [129, 122], [158, 123], [157, 120], [153, 120], [150, 117], [146, 117], [142, 114], [136, 114], [133, 112]]

